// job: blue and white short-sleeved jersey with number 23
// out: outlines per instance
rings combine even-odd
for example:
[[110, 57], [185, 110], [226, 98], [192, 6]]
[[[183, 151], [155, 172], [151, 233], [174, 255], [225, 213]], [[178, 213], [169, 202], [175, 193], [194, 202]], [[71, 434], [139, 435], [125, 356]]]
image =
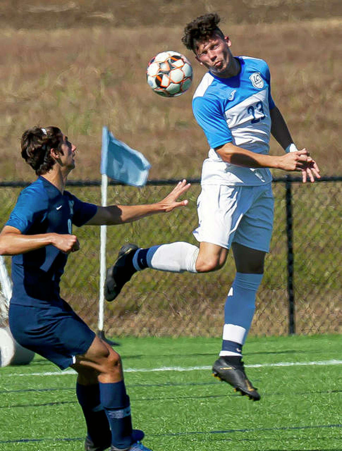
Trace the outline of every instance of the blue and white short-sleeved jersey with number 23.
[[194, 93], [194, 117], [210, 146], [208, 158], [203, 162], [202, 184], [255, 186], [272, 180], [268, 168], [226, 163], [214, 150], [233, 143], [251, 152], [269, 152], [269, 110], [275, 105], [268, 65], [248, 56], [239, 56], [237, 60], [241, 67], [238, 75], [219, 78], [208, 72]]

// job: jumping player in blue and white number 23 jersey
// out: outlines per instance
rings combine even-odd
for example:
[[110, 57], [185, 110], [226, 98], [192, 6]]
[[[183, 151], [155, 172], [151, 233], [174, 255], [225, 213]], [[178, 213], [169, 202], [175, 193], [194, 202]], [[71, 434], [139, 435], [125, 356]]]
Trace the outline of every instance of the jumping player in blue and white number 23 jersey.
[[[234, 57], [231, 40], [218, 28], [217, 14], [196, 18], [182, 42], [208, 69], [193, 97], [193, 112], [209, 143], [198, 198], [199, 248], [184, 242], [148, 249], [126, 245], [107, 271], [106, 299], [112, 300], [132, 274], [146, 267], [171, 272], [209, 272], [223, 267], [232, 248], [236, 276], [226, 298], [222, 350], [213, 374], [243, 395], [260, 395], [245, 375], [242, 345], [250, 329], [255, 295], [263, 277], [273, 226], [268, 168], [301, 171], [305, 183], [319, 178], [306, 149], [297, 150], [271, 97], [263, 60]], [[285, 150], [270, 156], [270, 134]]]

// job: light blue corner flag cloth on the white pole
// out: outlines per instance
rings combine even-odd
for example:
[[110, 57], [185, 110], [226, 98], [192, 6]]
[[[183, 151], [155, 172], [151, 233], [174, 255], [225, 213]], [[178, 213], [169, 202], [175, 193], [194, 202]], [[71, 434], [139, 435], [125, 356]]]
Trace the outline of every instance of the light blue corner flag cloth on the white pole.
[[143, 186], [150, 167], [142, 153], [114, 138], [107, 127], [102, 128], [101, 174], [127, 185]]

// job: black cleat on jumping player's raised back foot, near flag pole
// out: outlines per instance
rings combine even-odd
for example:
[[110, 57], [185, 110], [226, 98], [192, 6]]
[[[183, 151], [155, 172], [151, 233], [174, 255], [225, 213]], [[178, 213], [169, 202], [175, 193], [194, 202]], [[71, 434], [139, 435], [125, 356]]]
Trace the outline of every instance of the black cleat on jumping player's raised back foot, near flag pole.
[[105, 298], [112, 301], [120, 293], [121, 288], [133, 276], [136, 269], [133, 266], [133, 256], [139, 249], [136, 244], [124, 244], [114, 265], [107, 269], [105, 280]]

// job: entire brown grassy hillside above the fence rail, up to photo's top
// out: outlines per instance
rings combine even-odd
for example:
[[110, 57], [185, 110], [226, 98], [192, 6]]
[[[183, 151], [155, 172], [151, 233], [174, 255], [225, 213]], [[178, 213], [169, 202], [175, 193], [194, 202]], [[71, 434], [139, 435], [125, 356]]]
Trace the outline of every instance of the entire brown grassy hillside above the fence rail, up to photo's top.
[[[310, 149], [323, 175], [341, 174], [340, 0], [3, 0], [0, 179], [34, 178], [18, 146], [34, 124], [60, 126], [79, 146], [74, 179], [100, 178], [102, 125], [143, 152], [150, 179], [199, 177], [208, 145], [191, 96], [204, 70], [180, 37], [189, 20], [212, 11], [235, 55], [268, 62], [297, 145]], [[145, 79], [148, 60], [167, 49], [194, 68], [189, 92], [174, 99], [154, 94]], [[274, 140], [271, 152], [282, 152]]]

